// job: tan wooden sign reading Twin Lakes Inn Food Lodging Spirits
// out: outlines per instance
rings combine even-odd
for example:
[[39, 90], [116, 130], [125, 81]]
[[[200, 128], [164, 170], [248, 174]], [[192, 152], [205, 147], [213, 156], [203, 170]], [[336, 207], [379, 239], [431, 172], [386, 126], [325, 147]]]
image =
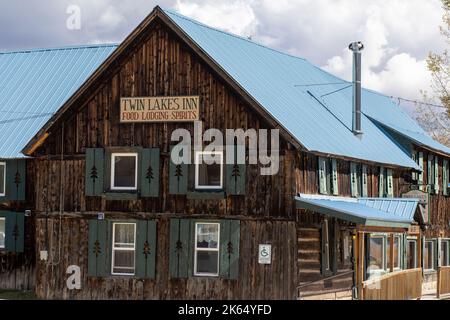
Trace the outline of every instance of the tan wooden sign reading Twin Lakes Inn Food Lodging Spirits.
[[120, 99], [120, 122], [192, 122], [199, 120], [200, 97]]

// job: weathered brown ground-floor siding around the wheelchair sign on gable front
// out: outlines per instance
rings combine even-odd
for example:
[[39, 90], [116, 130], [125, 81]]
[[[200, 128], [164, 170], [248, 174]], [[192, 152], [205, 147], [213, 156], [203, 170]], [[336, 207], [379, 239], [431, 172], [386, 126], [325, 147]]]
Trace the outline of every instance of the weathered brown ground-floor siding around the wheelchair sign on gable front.
[[[125, 214], [126, 215], [126, 214]], [[142, 214], [147, 216], [148, 214]], [[39, 218], [37, 247], [52, 241], [51, 263], [38, 261], [39, 297], [47, 299], [296, 299], [296, 228], [294, 222], [268, 220], [241, 221], [241, 247], [238, 280], [191, 277], [169, 279], [169, 217], [157, 219], [156, 279], [130, 277], [88, 278], [88, 220], [79, 216]], [[46, 236], [46, 228], [48, 235]], [[70, 232], [67, 232], [70, 230]], [[59, 240], [60, 239], [60, 240]], [[272, 244], [271, 265], [258, 264], [258, 245]], [[59, 256], [61, 244], [61, 256]], [[78, 265], [82, 289], [69, 291], [66, 269]]]

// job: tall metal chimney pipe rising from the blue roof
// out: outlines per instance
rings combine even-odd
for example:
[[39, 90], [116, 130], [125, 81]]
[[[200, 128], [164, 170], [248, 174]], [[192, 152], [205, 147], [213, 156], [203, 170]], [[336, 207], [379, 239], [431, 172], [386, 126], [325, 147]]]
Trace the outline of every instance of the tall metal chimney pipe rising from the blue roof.
[[361, 41], [353, 42], [348, 47], [353, 52], [353, 133], [362, 134], [361, 129]]

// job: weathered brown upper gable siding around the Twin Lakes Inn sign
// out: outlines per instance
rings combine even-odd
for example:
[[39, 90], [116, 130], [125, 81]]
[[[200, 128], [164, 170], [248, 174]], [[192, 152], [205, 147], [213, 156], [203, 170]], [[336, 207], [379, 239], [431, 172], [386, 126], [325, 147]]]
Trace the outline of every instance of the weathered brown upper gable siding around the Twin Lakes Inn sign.
[[[217, 128], [225, 133], [228, 128], [270, 129], [251, 107], [229, 89], [217, 74], [199, 60], [188, 47], [166, 28], [156, 24], [119, 59], [107, 78], [84, 97], [80, 109], [68, 115], [57, 126], [37, 156], [50, 157], [37, 162], [36, 208], [38, 211], [59, 210], [60, 162], [64, 158], [65, 210], [91, 211], [146, 211], [146, 212], [222, 212], [253, 216], [293, 217], [294, 185], [289, 170], [293, 157], [283, 156], [280, 173], [262, 176], [257, 165], [247, 170], [246, 197], [228, 197], [223, 201], [189, 201], [184, 196], [168, 193], [168, 170], [171, 134], [184, 128], [193, 135], [192, 123], [121, 124], [120, 98], [129, 96], [199, 95], [200, 119], [204, 130]], [[64, 133], [64, 134], [63, 134]], [[82, 157], [86, 148], [141, 146], [160, 148], [162, 156], [160, 190], [158, 199], [137, 201], [112, 201], [102, 203], [100, 198], [86, 199], [82, 177]], [[281, 141], [283, 150], [287, 143]], [[44, 195], [46, 192], [48, 195]], [[73, 201], [72, 201], [73, 200]]]

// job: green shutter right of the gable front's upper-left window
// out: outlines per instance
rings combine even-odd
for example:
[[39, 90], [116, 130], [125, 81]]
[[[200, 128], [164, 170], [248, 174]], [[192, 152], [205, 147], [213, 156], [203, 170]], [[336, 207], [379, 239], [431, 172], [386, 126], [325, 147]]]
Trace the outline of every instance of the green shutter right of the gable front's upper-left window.
[[141, 153], [141, 188], [144, 198], [159, 196], [159, 149], [143, 149]]

